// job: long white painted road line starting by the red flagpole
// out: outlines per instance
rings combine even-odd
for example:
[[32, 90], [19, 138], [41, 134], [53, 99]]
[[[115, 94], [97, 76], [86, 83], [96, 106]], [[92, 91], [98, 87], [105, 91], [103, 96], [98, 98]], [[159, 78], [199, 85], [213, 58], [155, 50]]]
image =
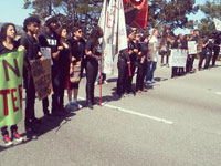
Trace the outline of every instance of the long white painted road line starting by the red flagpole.
[[[85, 100], [83, 97], [78, 97], [78, 98], [80, 100]], [[118, 107], [118, 106], [114, 106], [114, 105], [110, 105], [110, 104], [102, 103], [102, 105], [106, 106], [106, 107], [109, 107], [109, 108], [113, 108], [113, 110], [122, 111], [122, 112], [125, 112], [125, 113], [128, 113], [128, 114], [146, 117], [146, 118], [158, 121], [158, 122], [162, 122], [162, 123], [166, 123], [166, 124], [173, 124], [172, 121], [168, 121], [168, 120], [156, 117], [156, 116], [150, 116], [150, 115], [147, 115], [147, 114], [137, 113], [137, 112], [134, 112], [134, 111], [130, 111], [130, 110], [126, 110], [126, 108], [123, 108], [123, 107]]]

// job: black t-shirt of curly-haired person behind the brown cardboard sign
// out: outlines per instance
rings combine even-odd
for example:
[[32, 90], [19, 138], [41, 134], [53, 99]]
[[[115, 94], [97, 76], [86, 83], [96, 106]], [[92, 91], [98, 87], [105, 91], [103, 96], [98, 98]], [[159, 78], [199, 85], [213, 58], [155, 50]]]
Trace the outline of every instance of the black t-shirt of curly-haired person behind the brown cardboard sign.
[[20, 44], [23, 45], [27, 50], [27, 60], [39, 59], [38, 52], [40, 51], [40, 45], [35, 38], [32, 38], [29, 34], [24, 33], [20, 39]]

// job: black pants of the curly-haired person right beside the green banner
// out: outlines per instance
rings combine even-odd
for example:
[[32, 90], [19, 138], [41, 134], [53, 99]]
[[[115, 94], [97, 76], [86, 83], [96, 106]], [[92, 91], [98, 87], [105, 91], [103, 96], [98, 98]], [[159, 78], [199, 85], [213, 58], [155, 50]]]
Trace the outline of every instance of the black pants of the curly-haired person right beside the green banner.
[[35, 89], [33, 83], [33, 77], [30, 73], [28, 73], [24, 69], [24, 87], [25, 87], [25, 126], [31, 125], [31, 121], [35, 118], [34, 114], [34, 103], [35, 103]]

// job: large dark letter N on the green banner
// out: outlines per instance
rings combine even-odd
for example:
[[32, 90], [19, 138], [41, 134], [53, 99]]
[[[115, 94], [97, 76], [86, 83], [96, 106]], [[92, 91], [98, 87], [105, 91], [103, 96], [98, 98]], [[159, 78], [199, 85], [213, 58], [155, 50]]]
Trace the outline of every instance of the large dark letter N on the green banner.
[[3, 69], [4, 69], [4, 75], [6, 80], [9, 81], [9, 69], [18, 76], [20, 77], [20, 71], [19, 71], [19, 65], [17, 59], [13, 59], [14, 66], [12, 66], [7, 60], [2, 60], [3, 63]]

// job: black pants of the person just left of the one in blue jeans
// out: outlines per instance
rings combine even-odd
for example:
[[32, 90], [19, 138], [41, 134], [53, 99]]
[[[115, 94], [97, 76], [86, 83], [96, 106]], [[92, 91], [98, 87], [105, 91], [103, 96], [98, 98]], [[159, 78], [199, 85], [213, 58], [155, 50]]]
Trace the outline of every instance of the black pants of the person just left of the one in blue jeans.
[[147, 71], [147, 60], [145, 60], [143, 63], [138, 61], [137, 66], [137, 79], [136, 79], [136, 91], [144, 90], [144, 81], [146, 76]]

